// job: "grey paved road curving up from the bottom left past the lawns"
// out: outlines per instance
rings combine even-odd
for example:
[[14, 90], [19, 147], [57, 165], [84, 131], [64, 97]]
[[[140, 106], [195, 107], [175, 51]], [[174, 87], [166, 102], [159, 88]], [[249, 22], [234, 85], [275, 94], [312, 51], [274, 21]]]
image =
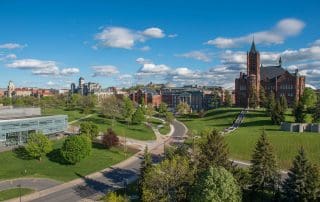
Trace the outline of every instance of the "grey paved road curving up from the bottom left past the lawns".
[[[174, 121], [174, 132], [171, 139], [181, 139], [187, 132], [185, 126]], [[153, 148], [151, 153], [157, 156], [163, 152], [163, 143], [159, 143]], [[106, 191], [118, 187], [122, 187], [124, 182], [132, 181], [137, 178], [137, 174], [140, 168], [140, 162], [142, 160], [141, 156], [131, 157], [133, 160], [125, 163], [125, 166], [115, 166], [106, 172], [102, 172], [101, 175], [97, 177], [87, 178], [85, 176], [79, 175], [80, 178], [84, 180], [83, 183], [50, 193], [48, 195], [42, 196], [35, 200], [34, 202], [57, 202], [57, 201], [80, 201], [86, 199], [96, 200], [99, 199]], [[90, 165], [88, 165], [90, 166]]]

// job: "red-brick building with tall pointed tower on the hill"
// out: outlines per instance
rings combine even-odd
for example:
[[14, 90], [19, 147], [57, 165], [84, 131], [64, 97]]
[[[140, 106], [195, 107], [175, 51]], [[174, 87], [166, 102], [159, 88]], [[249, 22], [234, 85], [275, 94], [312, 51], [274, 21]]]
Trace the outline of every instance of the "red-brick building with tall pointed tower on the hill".
[[247, 52], [247, 73], [240, 72], [235, 79], [236, 106], [248, 107], [250, 100], [259, 103], [261, 89], [268, 95], [271, 92], [279, 99], [285, 96], [288, 105], [298, 101], [305, 88], [305, 77], [299, 75], [298, 69], [290, 73], [282, 66], [281, 57], [274, 66], [264, 66], [260, 62], [260, 53], [256, 49], [254, 41]]

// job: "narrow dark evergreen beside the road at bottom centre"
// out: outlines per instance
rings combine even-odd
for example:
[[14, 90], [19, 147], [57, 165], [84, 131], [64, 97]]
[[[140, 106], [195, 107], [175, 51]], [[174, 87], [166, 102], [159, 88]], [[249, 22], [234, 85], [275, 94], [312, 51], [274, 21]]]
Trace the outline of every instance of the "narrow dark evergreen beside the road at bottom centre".
[[142, 198], [142, 190], [143, 190], [142, 188], [143, 188], [145, 174], [151, 167], [152, 167], [152, 157], [148, 151], [148, 146], [146, 146], [144, 148], [143, 160], [141, 161], [141, 164], [140, 164], [140, 175], [139, 175], [139, 181], [138, 181], [138, 190], [139, 190], [140, 198]]

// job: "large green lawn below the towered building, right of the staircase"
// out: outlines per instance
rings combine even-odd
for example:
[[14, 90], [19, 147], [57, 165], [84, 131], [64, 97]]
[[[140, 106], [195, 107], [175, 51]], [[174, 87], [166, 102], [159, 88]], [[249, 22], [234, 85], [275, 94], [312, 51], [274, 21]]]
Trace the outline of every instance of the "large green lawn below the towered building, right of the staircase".
[[[290, 113], [286, 116], [288, 121], [293, 120]], [[273, 145], [281, 168], [288, 169], [291, 166], [291, 161], [300, 146], [305, 148], [312, 162], [320, 162], [320, 134], [299, 134], [280, 131], [280, 126], [272, 125], [270, 117], [266, 116], [263, 110], [249, 112], [241, 127], [226, 136], [231, 157], [237, 160], [249, 161], [263, 128]]]

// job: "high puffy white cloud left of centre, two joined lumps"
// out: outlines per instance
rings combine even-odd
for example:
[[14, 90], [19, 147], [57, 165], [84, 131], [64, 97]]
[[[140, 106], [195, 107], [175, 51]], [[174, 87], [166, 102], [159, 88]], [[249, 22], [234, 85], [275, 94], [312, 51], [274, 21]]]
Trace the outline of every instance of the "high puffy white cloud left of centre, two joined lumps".
[[151, 38], [163, 38], [163, 30], [157, 27], [147, 28], [143, 31], [131, 30], [125, 27], [105, 27], [94, 38], [98, 44], [94, 47], [110, 47], [132, 49], [136, 43], [145, 42]]

